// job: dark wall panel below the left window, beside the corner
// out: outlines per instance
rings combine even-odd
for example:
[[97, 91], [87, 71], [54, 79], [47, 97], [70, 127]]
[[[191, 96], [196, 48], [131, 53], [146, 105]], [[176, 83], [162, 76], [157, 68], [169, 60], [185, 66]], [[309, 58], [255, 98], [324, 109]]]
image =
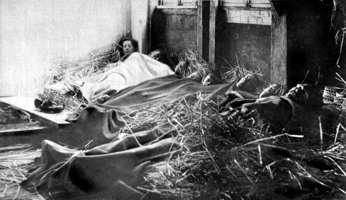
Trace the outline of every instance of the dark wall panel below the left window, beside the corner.
[[151, 50], [181, 53], [197, 42], [197, 8], [155, 9], [152, 16]]

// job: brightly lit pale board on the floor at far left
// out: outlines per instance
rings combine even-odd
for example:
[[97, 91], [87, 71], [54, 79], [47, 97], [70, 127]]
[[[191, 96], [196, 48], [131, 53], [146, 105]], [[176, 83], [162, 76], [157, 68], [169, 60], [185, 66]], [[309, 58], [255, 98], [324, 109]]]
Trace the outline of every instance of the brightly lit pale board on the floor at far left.
[[64, 109], [60, 113], [47, 113], [39, 111], [34, 105], [35, 97], [0, 97], [0, 104], [12, 105], [31, 114], [31, 117], [40, 120], [42, 123], [59, 128], [67, 126], [70, 122], [65, 119], [71, 111]]

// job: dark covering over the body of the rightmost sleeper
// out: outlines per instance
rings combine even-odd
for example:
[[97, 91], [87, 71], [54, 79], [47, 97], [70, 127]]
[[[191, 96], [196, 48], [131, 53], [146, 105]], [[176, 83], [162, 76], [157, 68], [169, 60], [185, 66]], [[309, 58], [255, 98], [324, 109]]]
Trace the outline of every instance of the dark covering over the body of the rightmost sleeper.
[[284, 96], [236, 98], [225, 107], [226, 111], [221, 113], [224, 116], [252, 118], [258, 124], [268, 124], [269, 130], [276, 132], [283, 129], [298, 133], [319, 132], [319, 123], [322, 131], [330, 132], [335, 130], [335, 125], [343, 118], [340, 116], [342, 110], [335, 104], [311, 106], [307, 103], [302, 106]]

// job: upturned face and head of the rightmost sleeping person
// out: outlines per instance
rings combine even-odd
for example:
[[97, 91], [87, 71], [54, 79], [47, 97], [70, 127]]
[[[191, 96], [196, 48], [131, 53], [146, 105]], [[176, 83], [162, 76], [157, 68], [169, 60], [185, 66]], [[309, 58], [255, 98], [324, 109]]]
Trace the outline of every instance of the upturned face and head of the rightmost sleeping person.
[[294, 102], [304, 104], [307, 103], [307, 100], [309, 99], [309, 93], [311, 89], [311, 86], [309, 86], [308, 84], [298, 84], [296, 87], [290, 89], [285, 94], [285, 97], [291, 99]]

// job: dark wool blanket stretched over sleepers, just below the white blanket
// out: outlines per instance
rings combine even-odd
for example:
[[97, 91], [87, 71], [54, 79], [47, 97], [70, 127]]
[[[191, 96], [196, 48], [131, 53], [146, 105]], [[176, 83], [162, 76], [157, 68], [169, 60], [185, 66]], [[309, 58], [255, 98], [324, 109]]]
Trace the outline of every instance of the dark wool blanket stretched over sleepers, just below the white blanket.
[[170, 75], [128, 87], [107, 102], [91, 104], [67, 120], [72, 122], [71, 132], [74, 135], [81, 141], [93, 140], [95, 146], [115, 139], [119, 129], [125, 126], [124, 121], [140, 109], [183, 99], [193, 102], [197, 92], [206, 93], [206, 101], [215, 102], [217, 106], [230, 86], [203, 86], [193, 79]]

